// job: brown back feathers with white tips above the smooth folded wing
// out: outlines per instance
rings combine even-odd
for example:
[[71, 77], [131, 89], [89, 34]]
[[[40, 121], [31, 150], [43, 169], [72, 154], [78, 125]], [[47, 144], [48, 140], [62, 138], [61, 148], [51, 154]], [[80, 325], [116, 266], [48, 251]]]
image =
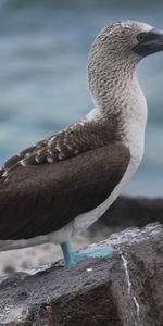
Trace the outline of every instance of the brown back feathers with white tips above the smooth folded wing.
[[61, 133], [46, 138], [35, 146], [20, 152], [8, 160], [0, 170], [0, 176], [16, 170], [18, 166], [55, 163], [117, 140], [116, 126], [112, 122], [106, 125], [85, 122], [76, 123]]

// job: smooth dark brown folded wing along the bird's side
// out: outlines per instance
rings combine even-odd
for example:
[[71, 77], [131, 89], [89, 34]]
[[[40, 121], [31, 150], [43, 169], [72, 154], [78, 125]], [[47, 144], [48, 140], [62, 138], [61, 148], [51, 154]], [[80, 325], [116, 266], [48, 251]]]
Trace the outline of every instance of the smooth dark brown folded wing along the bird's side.
[[0, 239], [45, 235], [95, 209], [120, 183], [129, 160], [129, 150], [114, 143], [10, 172], [0, 184]]

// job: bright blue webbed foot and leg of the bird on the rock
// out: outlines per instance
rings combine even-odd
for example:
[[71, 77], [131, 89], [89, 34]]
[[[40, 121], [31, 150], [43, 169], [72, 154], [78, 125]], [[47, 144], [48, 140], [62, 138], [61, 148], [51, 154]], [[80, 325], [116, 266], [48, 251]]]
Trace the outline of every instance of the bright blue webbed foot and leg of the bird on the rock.
[[114, 251], [114, 249], [109, 246], [92, 246], [90, 248], [80, 250], [79, 253], [75, 253], [70, 242], [64, 242], [61, 244], [61, 247], [66, 266], [75, 265], [87, 258], [102, 258], [111, 255]]

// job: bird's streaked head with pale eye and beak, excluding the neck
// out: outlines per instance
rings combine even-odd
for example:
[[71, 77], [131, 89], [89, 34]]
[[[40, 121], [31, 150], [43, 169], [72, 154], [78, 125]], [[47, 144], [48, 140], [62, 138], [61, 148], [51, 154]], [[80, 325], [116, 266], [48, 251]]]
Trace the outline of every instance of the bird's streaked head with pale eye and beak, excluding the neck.
[[97, 36], [92, 49], [120, 61], [141, 58], [163, 50], [163, 32], [146, 23], [116, 22], [103, 28]]

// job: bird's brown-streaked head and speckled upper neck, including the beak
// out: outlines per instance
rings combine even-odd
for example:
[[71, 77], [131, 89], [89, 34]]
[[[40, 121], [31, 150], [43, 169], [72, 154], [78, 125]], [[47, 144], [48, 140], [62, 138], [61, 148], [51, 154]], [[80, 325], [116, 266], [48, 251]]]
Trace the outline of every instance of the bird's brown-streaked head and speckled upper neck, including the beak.
[[113, 93], [114, 86], [123, 91], [139, 60], [162, 50], [163, 32], [146, 23], [116, 22], [103, 28], [88, 57], [88, 83], [93, 98], [104, 97], [109, 88]]

